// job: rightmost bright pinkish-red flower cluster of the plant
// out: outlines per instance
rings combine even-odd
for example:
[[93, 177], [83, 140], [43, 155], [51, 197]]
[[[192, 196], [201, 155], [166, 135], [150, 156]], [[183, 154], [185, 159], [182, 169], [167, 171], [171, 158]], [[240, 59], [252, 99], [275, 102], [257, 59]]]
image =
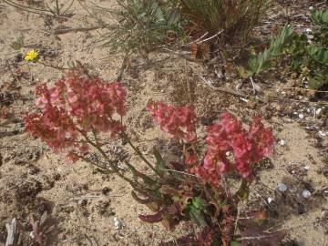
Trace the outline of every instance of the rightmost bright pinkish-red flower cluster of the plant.
[[221, 175], [232, 170], [243, 178], [250, 177], [251, 164], [272, 155], [276, 143], [272, 129], [264, 128], [261, 118], [253, 118], [249, 130], [242, 128], [241, 121], [230, 113], [222, 114], [220, 119], [220, 123], [207, 129], [204, 165], [191, 171], [214, 184], [218, 184]]

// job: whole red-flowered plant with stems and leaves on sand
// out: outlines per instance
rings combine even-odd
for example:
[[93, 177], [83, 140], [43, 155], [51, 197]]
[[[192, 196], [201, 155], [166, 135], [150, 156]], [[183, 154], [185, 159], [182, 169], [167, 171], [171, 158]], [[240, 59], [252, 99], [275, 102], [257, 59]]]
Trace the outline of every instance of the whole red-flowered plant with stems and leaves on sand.
[[[182, 156], [180, 161], [167, 161], [154, 149], [155, 161], [149, 161], [128, 138], [123, 123], [128, 112], [127, 91], [121, 84], [105, 83], [76, 70], [58, 80], [55, 87], [37, 87], [36, 95], [42, 112], [26, 116], [26, 130], [57, 153], [65, 153], [70, 162], [83, 159], [99, 172], [127, 181], [133, 198], [152, 211], [139, 215], [140, 220], [162, 222], [169, 230], [190, 220], [199, 226], [199, 235], [190, 238], [190, 245], [248, 245], [251, 239], [257, 245], [277, 245], [282, 240], [282, 231], [264, 231], [265, 212], [251, 211], [239, 219], [239, 204], [248, 198], [256, 177], [253, 166], [272, 155], [276, 142], [261, 118], [254, 118], [246, 129], [238, 118], [224, 113], [206, 129], [206, 147], [200, 148], [194, 108], [149, 102], [150, 116], [173, 138]], [[122, 144], [128, 143], [152, 173], [139, 171], [139, 165], [127, 159], [122, 162], [128, 171], [121, 169], [119, 158], [104, 150], [104, 135], [122, 138]], [[105, 163], [89, 159], [91, 149], [97, 150]], [[232, 189], [229, 182], [239, 182], [239, 188]]]

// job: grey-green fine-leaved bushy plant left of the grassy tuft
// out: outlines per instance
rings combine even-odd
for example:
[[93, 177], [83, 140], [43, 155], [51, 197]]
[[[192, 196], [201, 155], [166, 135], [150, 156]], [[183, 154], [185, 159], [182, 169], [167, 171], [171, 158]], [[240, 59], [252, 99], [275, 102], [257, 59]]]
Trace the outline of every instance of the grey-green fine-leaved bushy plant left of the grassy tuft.
[[[108, 29], [100, 42], [113, 52], [149, 51], [169, 40], [169, 35], [181, 36], [179, 9], [174, 4], [162, 4], [159, 0], [117, 1], [119, 10], [97, 6], [97, 22]], [[100, 13], [101, 12], [101, 13]], [[105, 17], [116, 19], [108, 24]], [[173, 37], [174, 38], [174, 37]]]

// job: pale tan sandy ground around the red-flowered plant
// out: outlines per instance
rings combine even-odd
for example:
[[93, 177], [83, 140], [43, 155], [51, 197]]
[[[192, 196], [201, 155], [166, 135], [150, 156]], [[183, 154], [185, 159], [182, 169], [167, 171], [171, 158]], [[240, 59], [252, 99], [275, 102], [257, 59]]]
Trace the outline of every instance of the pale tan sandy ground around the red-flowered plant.
[[[187, 234], [188, 224], [171, 232], [160, 224], [141, 222], [138, 214], [148, 210], [130, 197], [125, 183], [95, 173], [84, 162], [67, 165], [25, 133], [22, 118], [26, 112], [36, 110], [36, 85], [45, 80], [53, 83], [62, 73], [51, 67], [27, 64], [20, 54], [38, 48], [45, 52], [48, 63], [65, 66], [69, 60], [79, 60], [93, 67], [104, 80], [113, 81], [118, 75], [122, 56], [109, 55], [107, 49], [98, 46], [101, 30], [52, 34], [57, 26], [92, 25], [79, 5], [74, 5], [73, 10], [76, 15], [62, 23], [0, 3], [0, 103], [7, 105], [10, 112], [8, 119], [0, 119], [0, 244], [5, 245], [6, 222], [13, 218], [24, 221], [31, 213], [40, 215], [45, 210], [56, 225], [56, 230], [48, 235], [47, 245], [158, 245]], [[19, 36], [24, 36], [24, 46], [15, 51], [11, 44]], [[150, 55], [154, 59], [166, 56], [169, 54]], [[323, 128], [322, 118], [313, 115], [313, 108], [319, 106], [275, 100], [251, 109], [239, 97], [210, 88], [200, 74], [205, 74], [205, 68], [199, 63], [177, 57], [127, 71], [122, 80], [129, 97], [126, 124], [139, 148], [149, 153], [159, 138], [167, 137], [150, 121], [145, 110], [149, 99], [176, 105], [190, 103], [192, 99], [204, 121], [215, 119], [225, 110], [246, 121], [254, 115], [264, 115], [280, 144], [272, 163], [261, 168], [261, 179], [245, 206], [271, 210], [297, 245], [328, 245], [328, 131]], [[114, 142], [110, 148], [116, 146], [118, 143]], [[122, 151], [131, 153], [127, 148]], [[132, 159], [144, 169], [137, 157]], [[283, 194], [277, 192], [281, 183], [288, 187]], [[303, 190], [309, 190], [311, 197], [303, 198]], [[270, 204], [268, 198], [273, 199]], [[28, 245], [28, 239], [24, 245]]]

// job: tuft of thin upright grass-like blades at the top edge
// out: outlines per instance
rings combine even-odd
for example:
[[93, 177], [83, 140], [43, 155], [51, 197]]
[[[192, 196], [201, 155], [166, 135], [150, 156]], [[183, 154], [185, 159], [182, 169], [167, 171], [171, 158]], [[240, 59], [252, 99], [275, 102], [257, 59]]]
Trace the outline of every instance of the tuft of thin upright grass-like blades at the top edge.
[[270, 0], [180, 0], [182, 15], [195, 26], [215, 35], [247, 38], [266, 13]]

